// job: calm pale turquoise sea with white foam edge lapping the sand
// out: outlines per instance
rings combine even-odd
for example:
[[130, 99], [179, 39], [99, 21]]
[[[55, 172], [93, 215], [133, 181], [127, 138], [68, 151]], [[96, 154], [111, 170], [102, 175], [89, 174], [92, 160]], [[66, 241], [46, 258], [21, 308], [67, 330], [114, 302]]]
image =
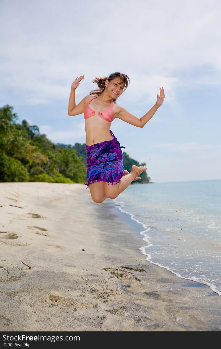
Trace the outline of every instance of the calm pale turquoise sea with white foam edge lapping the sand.
[[221, 180], [133, 184], [113, 202], [140, 225], [146, 260], [221, 296]]

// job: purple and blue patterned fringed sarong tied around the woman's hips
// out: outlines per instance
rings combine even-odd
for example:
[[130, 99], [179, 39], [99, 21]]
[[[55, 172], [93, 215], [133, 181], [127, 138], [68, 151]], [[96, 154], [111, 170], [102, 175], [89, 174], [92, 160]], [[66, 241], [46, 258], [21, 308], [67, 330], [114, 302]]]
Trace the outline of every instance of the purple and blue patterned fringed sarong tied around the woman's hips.
[[[85, 146], [87, 153], [87, 188], [89, 184], [97, 182], [116, 182], [119, 183], [122, 176], [126, 173], [123, 172], [123, 153], [120, 147], [120, 143], [110, 130], [111, 135], [114, 137], [110, 141], [104, 141], [100, 143], [92, 144], [91, 146]], [[86, 189], [87, 189], [86, 188]]]

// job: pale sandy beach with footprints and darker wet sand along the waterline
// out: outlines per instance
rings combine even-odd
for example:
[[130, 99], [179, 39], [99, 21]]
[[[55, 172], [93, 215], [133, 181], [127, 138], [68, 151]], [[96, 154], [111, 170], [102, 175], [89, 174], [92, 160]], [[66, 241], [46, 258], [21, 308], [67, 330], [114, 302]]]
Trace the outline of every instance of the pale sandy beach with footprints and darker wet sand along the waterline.
[[82, 184], [0, 193], [1, 331], [221, 330], [221, 297], [145, 260], [140, 228], [111, 199]]

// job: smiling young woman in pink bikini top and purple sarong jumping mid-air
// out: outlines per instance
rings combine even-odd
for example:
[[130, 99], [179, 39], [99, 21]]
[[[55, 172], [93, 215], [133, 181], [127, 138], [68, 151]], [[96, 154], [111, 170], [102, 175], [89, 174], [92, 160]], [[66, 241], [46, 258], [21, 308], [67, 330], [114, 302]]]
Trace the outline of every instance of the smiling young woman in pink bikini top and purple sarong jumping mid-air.
[[[76, 77], [71, 85], [68, 104], [68, 115], [75, 116], [84, 112], [87, 153], [87, 188], [92, 199], [103, 202], [106, 198], [115, 199], [133, 180], [140, 179], [139, 174], [146, 171], [146, 166], [131, 167], [131, 172], [123, 171], [123, 153], [117, 138], [110, 130], [113, 119], [118, 118], [128, 124], [143, 127], [153, 117], [164, 101], [164, 90], [160, 88], [156, 104], [141, 118], [129, 113], [116, 103], [117, 98], [126, 90], [130, 79], [119, 72], [108, 77], [95, 78], [99, 89], [91, 91], [90, 95], [75, 104], [75, 89], [84, 75]], [[91, 98], [91, 95], [93, 98]], [[111, 183], [111, 185], [109, 185]], [[115, 184], [115, 185], [113, 185]], [[116, 185], [117, 184], [117, 185]], [[87, 189], [86, 188], [86, 189]]]

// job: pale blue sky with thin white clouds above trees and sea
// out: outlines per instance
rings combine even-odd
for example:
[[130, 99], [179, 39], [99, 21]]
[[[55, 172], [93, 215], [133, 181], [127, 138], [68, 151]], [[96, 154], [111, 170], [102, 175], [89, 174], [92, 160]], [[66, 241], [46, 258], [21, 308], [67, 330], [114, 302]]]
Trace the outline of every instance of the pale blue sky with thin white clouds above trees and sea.
[[[0, 3], [0, 107], [27, 120], [53, 143], [86, 143], [75, 102], [97, 88], [95, 77], [121, 72], [130, 84], [117, 103], [143, 128], [111, 124], [130, 157], [155, 183], [221, 179], [221, 2], [6, 1]], [[130, 169], [128, 169], [130, 171]]]

